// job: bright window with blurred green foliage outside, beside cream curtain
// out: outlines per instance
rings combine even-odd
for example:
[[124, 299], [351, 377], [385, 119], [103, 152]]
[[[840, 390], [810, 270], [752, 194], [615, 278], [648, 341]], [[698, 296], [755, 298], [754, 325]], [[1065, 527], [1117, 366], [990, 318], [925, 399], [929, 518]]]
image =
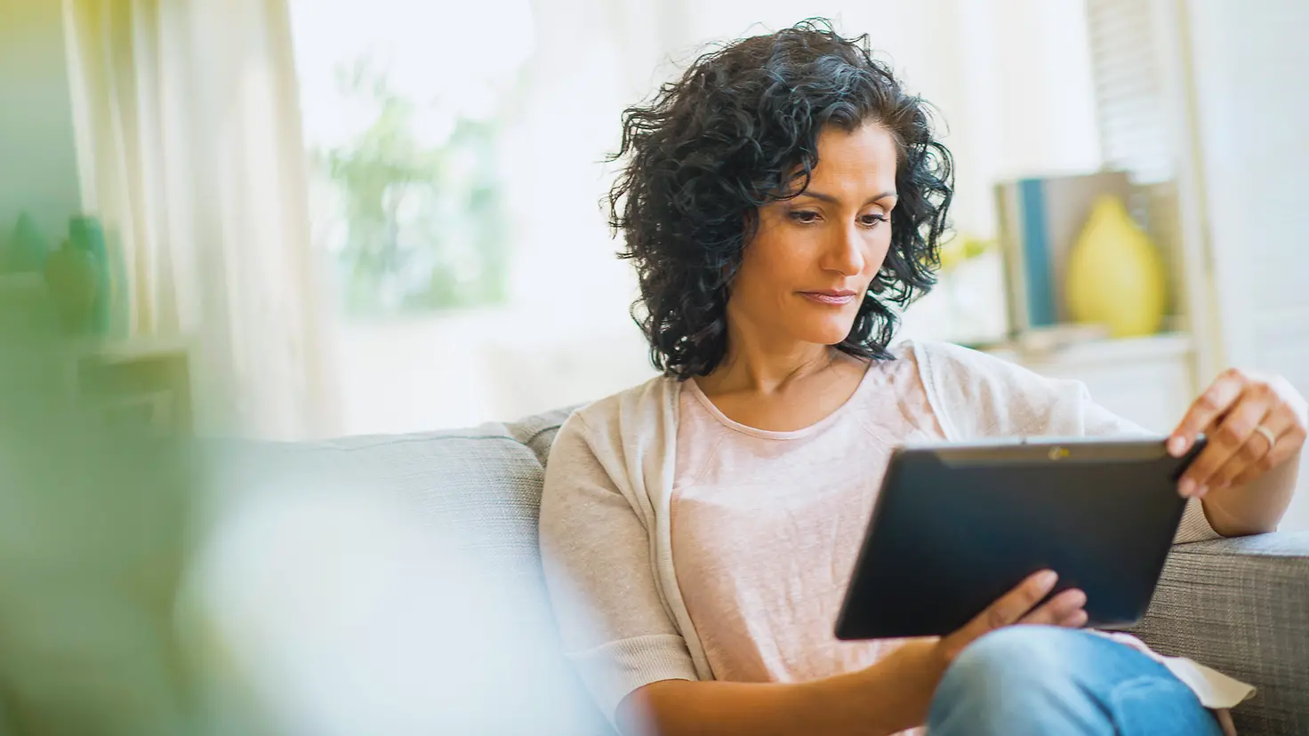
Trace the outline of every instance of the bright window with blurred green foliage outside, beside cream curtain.
[[[490, 0], [492, 54], [462, 5], [296, 0], [297, 71], [317, 248], [347, 316], [503, 304], [497, 160], [531, 47], [528, 0]], [[469, 30], [465, 30], [469, 29]]]

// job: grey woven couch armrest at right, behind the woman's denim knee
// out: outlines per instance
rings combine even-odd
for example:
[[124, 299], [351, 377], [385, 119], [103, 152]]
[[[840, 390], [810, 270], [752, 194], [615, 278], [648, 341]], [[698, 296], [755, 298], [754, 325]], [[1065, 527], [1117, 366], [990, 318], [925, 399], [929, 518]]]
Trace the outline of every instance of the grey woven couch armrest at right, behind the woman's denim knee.
[[1258, 688], [1242, 736], [1309, 733], [1309, 533], [1174, 546], [1134, 633]]

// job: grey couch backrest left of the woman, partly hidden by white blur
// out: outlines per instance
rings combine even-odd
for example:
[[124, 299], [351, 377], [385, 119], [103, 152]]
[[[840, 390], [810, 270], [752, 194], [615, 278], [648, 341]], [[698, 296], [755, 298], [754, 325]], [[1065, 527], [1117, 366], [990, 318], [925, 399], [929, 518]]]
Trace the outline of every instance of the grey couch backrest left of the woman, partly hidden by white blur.
[[[542, 457], [567, 415], [568, 411], [562, 410], [516, 424], [343, 437], [280, 445], [280, 452], [274, 451], [283, 458], [295, 458], [278, 464], [279, 479], [274, 486], [284, 485], [287, 469], [293, 468], [297, 474], [309, 471], [318, 473], [318, 478], [330, 477], [350, 492], [381, 494], [408, 509], [404, 513], [415, 515], [431, 530], [432, 538], [441, 542], [441, 549], [454, 550], [461, 566], [475, 570], [476, 584], [469, 585], [466, 575], [450, 575], [448, 558], [431, 564], [424, 562], [420, 566], [423, 579], [414, 584], [441, 591], [449, 596], [450, 605], [497, 612], [492, 629], [503, 634], [486, 642], [492, 660], [490, 667], [500, 665], [501, 660], [495, 656], [508, 647], [513, 656], [521, 652], [522, 671], [493, 685], [504, 690], [505, 707], [511, 711], [505, 718], [512, 728], [505, 732], [613, 733], [563, 656], [541, 568], [537, 515]], [[270, 448], [262, 445], [258, 452], [267, 457]], [[264, 462], [259, 465], [268, 468]], [[255, 485], [266, 486], [267, 482]], [[508, 612], [511, 623], [504, 623], [503, 612]], [[531, 634], [524, 635], [524, 631]], [[469, 635], [474, 639], [473, 647], [482, 646], [475, 639], [484, 634]], [[459, 664], [433, 661], [431, 667], [458, 668]], [[539, 685], [514, 681], [525, 677]], [[539, 693], [524, 694], [531, 690]], [[545, 719], [538, 710], [542, 698], [550, 705]], [[537, 715], [531, 716], [530, 728], [518, 729], [512, 710], [525, 706], [513, 702], [524, 699], [530, 701], [530, 710]]]

